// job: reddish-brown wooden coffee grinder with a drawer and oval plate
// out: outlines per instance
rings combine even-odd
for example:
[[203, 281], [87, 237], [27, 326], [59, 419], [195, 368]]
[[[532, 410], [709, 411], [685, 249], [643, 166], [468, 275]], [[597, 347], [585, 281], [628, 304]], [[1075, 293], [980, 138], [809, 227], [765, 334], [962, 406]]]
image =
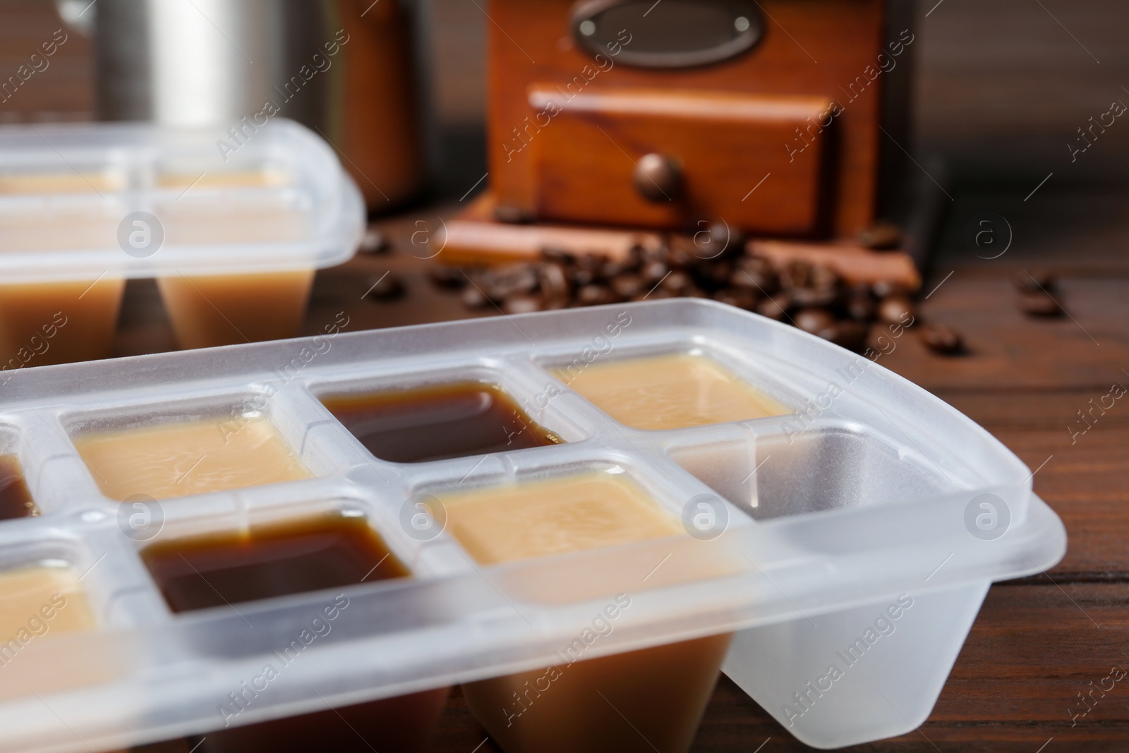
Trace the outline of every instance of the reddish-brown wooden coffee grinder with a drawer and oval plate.
[[759, 253], [917, 283], [896, 229], [875, 231], [913, 210], [908, 0], [488, 12], [490, 190], [448, 228], [450, 260], [534, 255], [546, 233], [614, 255], [639, 233], [720, 222]]

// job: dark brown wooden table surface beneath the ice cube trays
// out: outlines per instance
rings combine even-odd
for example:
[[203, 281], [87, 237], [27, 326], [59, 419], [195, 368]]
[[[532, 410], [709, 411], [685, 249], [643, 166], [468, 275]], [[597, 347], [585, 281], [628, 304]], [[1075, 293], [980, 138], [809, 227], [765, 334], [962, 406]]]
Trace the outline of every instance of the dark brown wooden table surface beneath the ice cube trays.
[[[1086, 716], [1070, 716], [1085, 710], [1079, 692], [1097, 686], [1115, 665], [1129, 668], [1129, 397], [1075, 441], [1067, 428], [1080, 428], [1077, 411], [1113, 383], [1129, 387], [1129, 259], [1122, 251], [1129, 220], [1121, 210], [1129, 195], [1043, 189], [1024, 203], [1029, 190], [964, 194], [952, 205], [922, 313], [960, 330], [971, 352], [942, 358], [908, 336], [879, 362], [979, 421], [1038, 469], [1035, 491], [1066, 523], [1069, 552], [1045, 575], [992, 587], [927, 724], [852, 751], [1129, 751], [1129, 678], [1104, 698], [1095, 692], [1099, 702]], [[425, 236], [414, 245], [411, 236], [438, 227], [437, 218], [454, 209], [429, 207], [380, 222], [396, 251], [321, 272], [306, 332], [342, 310], [349, 329], [489, 313], [472, 314], [457, 296], [436, 290], [425, 278], [426, 263], [404, 251], [432, 253]], [[1013, 246], [1000, 259], [979, 260], [961, 239], [968, 218], [981, 210], [1004, 214], [1014, 228]], [[1069, 316], [1036, 321], [1016, 309], [1012, 277], [1036, 265], [1059, 273], [1056, 296]], [[385, 272], [399, 274], [409, 295], [392, 303], [362, 299]], [[155, 288], [132, 286], [117, 353], [172, 347]], [[456, 691], [436, 751], [497, 750], [484, 739]], [[808, 748], [723, 677], [693, 750]]]

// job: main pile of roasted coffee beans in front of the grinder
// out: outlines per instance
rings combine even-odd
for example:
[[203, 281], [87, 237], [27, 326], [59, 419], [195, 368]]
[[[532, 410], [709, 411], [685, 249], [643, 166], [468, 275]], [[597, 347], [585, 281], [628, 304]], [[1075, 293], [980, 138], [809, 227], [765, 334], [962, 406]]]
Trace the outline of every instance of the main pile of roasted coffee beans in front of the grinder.
[[[778, 268], [764, 257], [742, 252], [743, 243], [726, 240], [703, 237], [695, 243], [685, 236], [671, 236], [658, 248], [636, 246], [623, 261], [545, 248], [540, 261], [501, 268], [436, 265], [431, 280], [443, 288], [460, 289], [463, 303], [471, 308], [497, 306], [505, 314], [660, 298], [712, 298], [789, 322], [855, 351], [866, 348], [872, 329], [919, 321], [910, 291], [896, 284], [848, 284], [830, 266], [804, 261]], [[725, 246], [721, 253], [707, 253], [720, 246]], [[960, 335], [947, 327], [930, 327], [929, 335], [921, 332], [922, 342], [935, 352], [963, 349]]]

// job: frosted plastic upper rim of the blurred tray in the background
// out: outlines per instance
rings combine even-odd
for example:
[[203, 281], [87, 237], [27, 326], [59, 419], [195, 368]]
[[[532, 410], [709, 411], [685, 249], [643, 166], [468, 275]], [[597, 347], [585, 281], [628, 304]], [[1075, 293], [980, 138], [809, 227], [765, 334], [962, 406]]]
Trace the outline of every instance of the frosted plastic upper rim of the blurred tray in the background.
[[[0, 279], [320, 269], [352, 256], [365, 205], [329, 145], [285, 119], [239, 128], [0, 126]], [[133, 225], [133, 212], [160, 227]], [[126, 253], [130, 233], [150, 235]]]

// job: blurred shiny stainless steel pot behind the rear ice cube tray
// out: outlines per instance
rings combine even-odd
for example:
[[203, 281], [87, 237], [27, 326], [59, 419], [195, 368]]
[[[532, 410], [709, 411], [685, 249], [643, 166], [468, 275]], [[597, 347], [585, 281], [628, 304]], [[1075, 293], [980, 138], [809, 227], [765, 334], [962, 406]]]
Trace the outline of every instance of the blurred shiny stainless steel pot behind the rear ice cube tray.
[[56, 6], [94, 40], [99, 120], [234, 126], [266, 112], [330, 141], [370, 208], [422, 186], [411, 8], [401, 0]]

